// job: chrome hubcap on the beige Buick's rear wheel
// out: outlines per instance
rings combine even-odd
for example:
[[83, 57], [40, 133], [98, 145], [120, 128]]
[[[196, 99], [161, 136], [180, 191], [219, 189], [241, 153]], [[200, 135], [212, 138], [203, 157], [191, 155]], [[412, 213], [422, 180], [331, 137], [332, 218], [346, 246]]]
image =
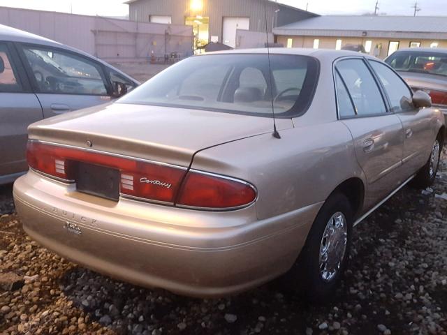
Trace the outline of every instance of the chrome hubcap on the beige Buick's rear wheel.
[[320, 275], [328, 282], [337, 275], [348, 243], [348, 225], [342, 212], [337, 212], [329, 219], [320, 244]]

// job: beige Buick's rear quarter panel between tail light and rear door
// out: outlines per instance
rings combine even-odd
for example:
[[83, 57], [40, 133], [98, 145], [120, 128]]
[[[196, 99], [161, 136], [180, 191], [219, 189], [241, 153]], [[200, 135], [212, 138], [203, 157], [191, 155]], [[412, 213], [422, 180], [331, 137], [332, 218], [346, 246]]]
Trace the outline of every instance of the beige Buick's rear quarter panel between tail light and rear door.
[[192, 168], [249, 181], [258, 219], [324, 202], [344, 180], [365, 180], [342, 122], [298, 126], [200, 151]]

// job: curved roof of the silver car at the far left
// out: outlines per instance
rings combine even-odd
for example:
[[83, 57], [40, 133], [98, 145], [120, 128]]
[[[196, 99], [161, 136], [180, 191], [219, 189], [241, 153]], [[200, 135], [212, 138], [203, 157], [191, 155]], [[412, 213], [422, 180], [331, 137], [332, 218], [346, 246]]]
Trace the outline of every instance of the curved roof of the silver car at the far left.
[[77, 54], [82, 54], [83, 56], [85, 56], [89, 59], [94, 59], [95, 61], [98, 61], [99, 63], [107, 66], [108, 68], [113, 68], [119, 74], [124, 75], [124, 77], [129, 78], [136, 84], [140, 84], [137, 80], [133, 79], [129, 75], [126, 75], [126, 73], [122, 72], [121, 70], [119, 70], [117, 68], [114, 68], [113, 66], [106, 63], [105, 61], [102, 61], [101, 59], [98, 59], [98, 58], [92, 56], [91, 54], [88, 54], [87, 52], [83, 52], [82, 50], [75, 49], [74, 47], [69, 47], [68, 45], [64, 45], [62, 43], [56, 42], [55, 40], [50, 40], [49, 38], [31, 34], [27, 31], [15, 29], [13, 27], [8, 27], [8, 26], [5, 26], [4, 24], [0, 24], [0, 40], [10, 41], [10, 42], [19, 42], [19, 43], [38, 44], [38, 45], [44, 45], [47, 47], [59, 47], [64, 50], [76, 52]]

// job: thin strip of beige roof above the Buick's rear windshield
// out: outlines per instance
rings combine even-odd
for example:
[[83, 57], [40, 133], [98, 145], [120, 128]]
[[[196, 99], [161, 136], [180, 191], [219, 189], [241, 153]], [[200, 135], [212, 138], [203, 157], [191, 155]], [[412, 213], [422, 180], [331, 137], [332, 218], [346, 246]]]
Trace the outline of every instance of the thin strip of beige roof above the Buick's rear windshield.
[[271, 47], [258, 49], [237, 49], [224, 50], [217, 52], [208, 52], [207, 54], [296, 54], [302, 56], [315, 57], [316, 59], [337, 59], [340, 57], [367, 57], [376, 59], [376, 57], [369, 54], [362, 54], [360, 52], [349, 50], [330, 50], [330, 49], [310, 49], [304, 47]]

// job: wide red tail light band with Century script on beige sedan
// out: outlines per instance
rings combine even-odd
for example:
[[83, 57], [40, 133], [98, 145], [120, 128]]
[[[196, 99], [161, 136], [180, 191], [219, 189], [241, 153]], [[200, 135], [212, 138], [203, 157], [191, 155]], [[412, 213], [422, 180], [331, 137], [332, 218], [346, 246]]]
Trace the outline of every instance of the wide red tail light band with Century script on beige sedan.
[[122, 195], [181, 207], [235, 209], [256, 200], [254, 186], [245, 181], [194, 170], [186, 174], [186, 168], [98, 151], [29, 141], [27, 161], [30, 168], [66, 182], [75, 182], [76, 162], [119, 170]]

